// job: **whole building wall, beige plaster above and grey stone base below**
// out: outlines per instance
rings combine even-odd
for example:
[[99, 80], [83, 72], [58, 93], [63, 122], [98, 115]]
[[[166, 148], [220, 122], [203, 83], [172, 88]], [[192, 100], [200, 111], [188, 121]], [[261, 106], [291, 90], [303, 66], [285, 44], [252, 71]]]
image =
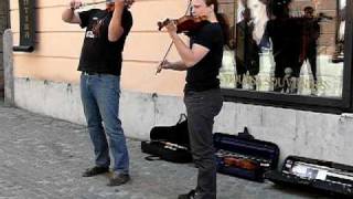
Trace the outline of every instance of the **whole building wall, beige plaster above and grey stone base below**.
[[[139, 0], [131, 8], [135, 24], [124, 52], [120, 104], [128, 137], [148, 139], [152, 126], [174, 125], [179, 114], [185, 112], [184, 73], [154, 73], [170, 43], [168, 34], [157, 31], [157, 21], [181, 17], [186, 2]], [[35, 113], [85, 124], [76, 71], [84, 32], [77, 25], [61, 21], [61, 13], [67, 8], [62, 0], [38, 0], [36, 8], [36, 50], [13, 55], [15, 104]], [[11, 24], [15, 45], [19, 40], [17, 0], [11, 0]], [[173, 50], [169, 59], [176, 57]], [[225, 103], [214, 132], [236, 134], [244, 126], [256, 138], [278, 144], [281, 159], [301, 155], [353, 165], [351, 115]]]

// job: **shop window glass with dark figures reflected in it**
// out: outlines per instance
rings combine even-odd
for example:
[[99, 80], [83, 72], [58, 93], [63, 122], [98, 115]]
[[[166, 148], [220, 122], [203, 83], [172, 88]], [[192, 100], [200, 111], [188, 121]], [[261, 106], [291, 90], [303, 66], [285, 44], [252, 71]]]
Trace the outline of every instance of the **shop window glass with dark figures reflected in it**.
[[222, 86], [341, 97], [344, 12], [345, 0], [237, 0]]

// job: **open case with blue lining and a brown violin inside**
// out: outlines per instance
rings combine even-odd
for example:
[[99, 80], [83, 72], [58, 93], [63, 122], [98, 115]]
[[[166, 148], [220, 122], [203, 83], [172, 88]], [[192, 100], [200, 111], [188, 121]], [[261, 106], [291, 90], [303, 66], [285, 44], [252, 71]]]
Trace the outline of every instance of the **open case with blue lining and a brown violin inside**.
[[264, 174], [277, 168], [278, 146], [255, 139], [246, 127], [238, 135], [215, 133], [213, 140], [221, 174], [264, 181]]

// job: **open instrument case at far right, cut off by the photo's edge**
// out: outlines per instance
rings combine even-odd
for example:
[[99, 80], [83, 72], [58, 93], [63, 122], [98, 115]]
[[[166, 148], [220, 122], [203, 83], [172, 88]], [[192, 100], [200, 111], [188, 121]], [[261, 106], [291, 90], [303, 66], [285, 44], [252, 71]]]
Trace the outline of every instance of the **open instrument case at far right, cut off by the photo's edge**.
[[265, 178], [282, 186], [330, 193], [334, 198], [353, 198], [353, 167], [299, 156], [288, 156], [280, 171]]

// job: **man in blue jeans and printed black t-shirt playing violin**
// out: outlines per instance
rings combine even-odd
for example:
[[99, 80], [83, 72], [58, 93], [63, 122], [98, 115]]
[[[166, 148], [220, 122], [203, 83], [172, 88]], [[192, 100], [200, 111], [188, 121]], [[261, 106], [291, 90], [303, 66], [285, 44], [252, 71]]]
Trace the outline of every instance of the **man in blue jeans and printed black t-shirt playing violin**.
[[[108, 172], [109, 150], [114, 167], [108, 186], [126, 184], [129, 177], [129, 155], [119, 116], [121, 52], [132, 27], [128, 8], [133, 0], [106, 0], [106, 9], [75, 11], [82, 7], [72, 0], [62, 14], [63, 21], [86, 29], [79, 57], [81, 98], [94, 145], [95, 166], [84, 177]], [[103, 125], [104, 123], [104, 125]], [[109, 144], [108, 144], [109, 142]]]

